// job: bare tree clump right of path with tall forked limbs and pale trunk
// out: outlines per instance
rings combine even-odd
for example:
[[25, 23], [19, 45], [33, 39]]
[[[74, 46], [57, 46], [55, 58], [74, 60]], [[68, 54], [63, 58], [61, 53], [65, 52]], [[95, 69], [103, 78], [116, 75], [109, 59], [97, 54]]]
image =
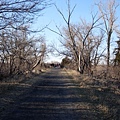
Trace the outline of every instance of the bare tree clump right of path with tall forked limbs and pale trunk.
[[64, 32], [61, 32], [58, 27], [59, 32], [49, 29], [59, 34], [64, 39], [64, 42], [61, 43], [66, 49], [60, 53], [72, 57], [74, 63], [76, 63], [77, 70], [83, 74], [85, 70], [91, 69], [91, 53], [93, 49], [95, 49], [96, 43], [99, 43], [97, 44], [98, 47], [100, 45], [100, 41], [93, 42], [95, 38], [93, 38], [93, 30], [101, 25], [101, 23], [99, 23], [101, 17], [97, 17], [97, 14], [92, 15], [91, 23], [81, 20], [80, 25], [73, 25], [71, 23], [71, 17], [75, 6], [71, 9], [70, 0], [68, 0], [68, 18], [64, 16], [64, 13], [62, 13], [57, 6], [55, 7], [67, 27], [63, 28]]

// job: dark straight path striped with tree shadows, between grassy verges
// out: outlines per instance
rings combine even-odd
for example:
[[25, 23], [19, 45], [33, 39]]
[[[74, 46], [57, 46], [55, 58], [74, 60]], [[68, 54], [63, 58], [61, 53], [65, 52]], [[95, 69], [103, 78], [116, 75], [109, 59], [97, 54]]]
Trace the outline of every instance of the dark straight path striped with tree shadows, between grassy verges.
[[0, 120], [100, 120], [89, 89], [80, 89], [64, 70], [52, 69], [20, 90]]

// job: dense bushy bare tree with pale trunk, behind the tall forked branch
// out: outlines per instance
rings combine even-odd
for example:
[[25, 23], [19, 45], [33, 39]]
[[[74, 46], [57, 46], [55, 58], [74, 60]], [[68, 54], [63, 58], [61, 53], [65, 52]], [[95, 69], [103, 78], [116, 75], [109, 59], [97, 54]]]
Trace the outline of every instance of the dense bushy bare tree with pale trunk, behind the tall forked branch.
[[[92, 62], [97, 65], [104, 52], [99, 52], [99, 47], [103, 41], [104, 35], [96, 35], [94, 32], [94, 29], [100, 24], [93, 24], [95, 22], [97, 23], [99, 19], [93, 20], [93, 23], [82, 21], [81, 24], [71, 25], [71, 33], [74, 35], [78, 58], [75, 57], [73, 44], [71, 39], [69, 39], [69, 30], [64, 28], [66, 39], [64, 39], [65, 42], [63, 45], [67, 48], [67, 52], [65, 52], [69, 53], [68, 55], [70, 56], [74, 56], [72, 58], [74, 59], [74, 62], [76, 62], [77, 69], [81, 73], [84, 73], [86, 70], [90, 72]], [[97, 31], [99, 31], [99, 29]]]

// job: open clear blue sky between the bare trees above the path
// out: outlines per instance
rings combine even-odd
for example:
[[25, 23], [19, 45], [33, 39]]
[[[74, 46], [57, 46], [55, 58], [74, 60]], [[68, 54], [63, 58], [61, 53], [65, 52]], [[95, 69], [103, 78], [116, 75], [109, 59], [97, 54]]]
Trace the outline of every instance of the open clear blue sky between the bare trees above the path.
[[[67, 13], [66, 1], [67, 0], [52, 0], [52, 2], [57, 5], [57, 7], [64, 13], [64, 15], [67, 18], [68, 13]], [[91, 20], [91, 12], [92, 11], [94, 11], [94, 13], [97, 12], [97, 9], [95, 8], [95, 5], [94, 5], [95, 1], [96, 0], [70, 0], [71, 8], [73, 8], [73, 6], [76, 5], [76, 8], [75, 8], [72, 18], [71, 18], [71, 22], [79, 23], [80, 18], [85, 19], [89, 22]], [[57, 31], [56, 25], [59, 28], [62, 28], [63, 26], [66, 25], [54, 5], [45, 9], [42, 13], [44, 13], [43, 16], [39, 17], [39, 19], [37, 19], [37, 21], [34, 24], [35, 29], [42, 28], [42, 27], [46, 26], [47, 24], [49, 24], [49, 26], [48, 26], [49, 28]], [[58, 39], [60, 36], [58, 36], [57, 34], [51, 32], [47, 29], [44, 30], [44, 32], [41, 34], [45, 35], [47, 44], [54, 43], [56, 46], [59, 46]], [[61, 57], [49, 55], [47, 61], [48, 62], [61, 61], [60, 58]]]

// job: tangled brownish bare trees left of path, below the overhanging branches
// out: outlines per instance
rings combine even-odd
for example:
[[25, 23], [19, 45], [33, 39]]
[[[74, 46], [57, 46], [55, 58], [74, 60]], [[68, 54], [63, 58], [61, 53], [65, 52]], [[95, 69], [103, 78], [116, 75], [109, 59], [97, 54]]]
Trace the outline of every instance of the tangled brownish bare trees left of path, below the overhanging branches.
[[35, 68], [39, 64], [38, 60], [43, 62], [46, 53], [43, 37], [28, 38], [26, 27], [21, 27], [21, 31], [12, 30], [10, 33], [3, 32], [0, 37], [0, 66], [2, 70], [0, 75], [6, 76], [32, 71], [33, 66]]

